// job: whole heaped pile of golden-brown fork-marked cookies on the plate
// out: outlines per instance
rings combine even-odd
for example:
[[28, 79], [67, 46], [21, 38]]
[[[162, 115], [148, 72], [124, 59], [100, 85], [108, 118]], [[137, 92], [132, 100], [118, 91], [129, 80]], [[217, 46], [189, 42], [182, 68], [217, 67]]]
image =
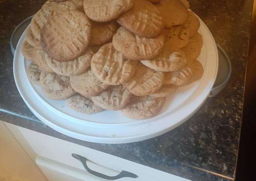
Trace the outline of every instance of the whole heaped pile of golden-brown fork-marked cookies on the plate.
[[199, 80], [200, 22], [186, 0], [48, 0], [26, 30], [29, 80], [78, 112], [148, 119]]

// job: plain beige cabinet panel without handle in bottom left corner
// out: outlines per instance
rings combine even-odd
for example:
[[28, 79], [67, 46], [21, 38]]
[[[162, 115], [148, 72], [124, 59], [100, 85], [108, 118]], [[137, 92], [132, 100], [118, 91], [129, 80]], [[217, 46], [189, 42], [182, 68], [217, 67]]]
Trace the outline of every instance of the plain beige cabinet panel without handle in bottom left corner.
[[46, 181], [3, 121], [0, 121], [0, 181]]

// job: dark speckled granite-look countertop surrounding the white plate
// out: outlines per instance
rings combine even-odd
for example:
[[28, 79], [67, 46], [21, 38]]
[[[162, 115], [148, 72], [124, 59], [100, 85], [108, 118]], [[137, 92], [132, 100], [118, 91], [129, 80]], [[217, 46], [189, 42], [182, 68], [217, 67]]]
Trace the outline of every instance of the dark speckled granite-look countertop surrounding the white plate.
[[84, 145], [164, 172], [196, 181], [233, 180], [238, 154], [253, 0], [190, 0], [232, 62], [227, 87], [188, 121], [153, 139], [98, 144], [65, 136], [47, 127], [27, 108], [15, 86], [10, 50], [14, 28], [44, 1], [0, 1], [0, 120]]

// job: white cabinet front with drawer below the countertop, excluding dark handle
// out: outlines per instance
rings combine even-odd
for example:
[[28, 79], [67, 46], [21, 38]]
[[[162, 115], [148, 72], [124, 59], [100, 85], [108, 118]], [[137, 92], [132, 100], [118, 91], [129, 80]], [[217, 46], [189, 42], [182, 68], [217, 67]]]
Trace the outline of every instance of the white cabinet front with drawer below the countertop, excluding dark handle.
[[[120, 181], [188, 181], [160, 170], [134, 163], [104, 152], [76, 145], [25, 128], [6, 124], [49, 181], [102, 181], [88, 173], [72, 153], [86, 157], [91, 170], [108, 176], [118, 175], [122, 170], [134, 173], [138, 178], [120, 178]], [[22, 135], [22, 137], [21, 137]], [[31, 149], [32, 148], [32, 149]]]

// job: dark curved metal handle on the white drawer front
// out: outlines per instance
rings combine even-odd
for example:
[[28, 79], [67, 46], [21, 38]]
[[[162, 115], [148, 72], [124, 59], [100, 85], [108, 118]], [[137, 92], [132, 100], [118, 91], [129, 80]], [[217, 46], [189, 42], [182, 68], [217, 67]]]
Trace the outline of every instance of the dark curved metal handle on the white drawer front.
[[77, 160], [81, 161], [81, 163], [83, 164], [85, 170], [89, 173], [91, 173], [92, 175], [95, 175], [95, 176], [98, 176], [100, 178], [103, 178], [103, 179], [108, 179], [108, 180], [116, 180], [116, 179], [119, 179], [119, 178], [123, 178], [123, 177], [130, 177], [130, 178], [138, 178], [137, 175], [135, 175], [134, 173], [131, 173], [131, 172], [127, 172], [127, 171], [124, 171], [122, 170], [122, 172], [120, 172], [118, 175], [116, 176], [108, 176], [108, 175], [105, 175], [103, 173], [99, 173], [99, 172], [96, 172], [94, 170], [91, 170], [87, 164], [86, 164], [86, 161], [88, 160], [87, 158], [85, 157], [82, 157], [81, 155], [78, 155], [78, 154], [74, 154], [72, 153], [71, 154], [72, 157], [76, 158]]

